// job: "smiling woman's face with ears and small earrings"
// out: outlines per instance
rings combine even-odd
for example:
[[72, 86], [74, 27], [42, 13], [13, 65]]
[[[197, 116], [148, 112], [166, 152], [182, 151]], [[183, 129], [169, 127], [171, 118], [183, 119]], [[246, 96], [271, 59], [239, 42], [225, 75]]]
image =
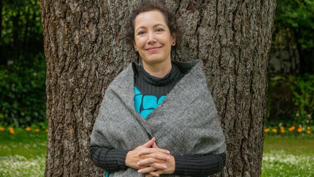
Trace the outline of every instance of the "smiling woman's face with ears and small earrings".
[[139, 50], [146, 64], [171, 60], [171, 46], [175, 38], [161, 12], [154, 10], [140, 13], [134, 22], [134, 47]]

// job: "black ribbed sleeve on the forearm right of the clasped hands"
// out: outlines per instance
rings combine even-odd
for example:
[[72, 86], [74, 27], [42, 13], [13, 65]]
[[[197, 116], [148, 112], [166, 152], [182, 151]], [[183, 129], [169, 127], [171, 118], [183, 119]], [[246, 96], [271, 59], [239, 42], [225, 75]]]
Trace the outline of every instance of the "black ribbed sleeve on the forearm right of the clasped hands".
[[174, 155], [174, 174], [204, 177], [222, 171], [226, 164], [226, 153], [204, 155]]

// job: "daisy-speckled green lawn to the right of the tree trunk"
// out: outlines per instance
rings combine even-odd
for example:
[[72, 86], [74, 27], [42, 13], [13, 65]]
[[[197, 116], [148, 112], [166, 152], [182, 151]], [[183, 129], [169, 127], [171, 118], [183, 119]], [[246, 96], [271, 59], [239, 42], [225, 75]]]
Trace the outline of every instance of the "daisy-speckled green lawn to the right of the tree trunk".
[[266, 136], [262, 177], [314, 177], [314, 137]]

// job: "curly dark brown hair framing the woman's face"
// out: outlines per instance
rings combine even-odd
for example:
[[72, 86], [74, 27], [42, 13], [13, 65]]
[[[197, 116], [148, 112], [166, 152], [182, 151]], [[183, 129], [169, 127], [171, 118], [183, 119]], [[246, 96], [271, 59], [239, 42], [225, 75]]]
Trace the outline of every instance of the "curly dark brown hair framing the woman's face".
[[[168, 8], [164, 4], [162, 4], [160, 2], [154, 2], [154, 1], [146, 1], [142, 4], [140, 4], [138, 7], [133, 9], [132, 14], [131, 14], [130, 19], [129, 19], [129, 22], [127, 24], [127, 30], [126, 30], [126, 34], [125, 34], [126, 42], [133, 46], [135, 18], [142, 12], [148, 12], [148, 11], [152, 11], [152, 10], [158, 10], [163, 14], [165, 21], [168, 25], [168, 28], [170, 29], [171, 35], [175, 36], [175, 40], [176, 40], [175, 46], [177, 46], [180, 42], [180, 39], [181, 39], [181, 33], [180, 33], [179, 28], [178, 28], [178, 25], [176, 22], [176, 17], [174, 15], [174, 13], [169, 11]], [[175, 48], [175, 46], [172, 46], [172, 47]]]

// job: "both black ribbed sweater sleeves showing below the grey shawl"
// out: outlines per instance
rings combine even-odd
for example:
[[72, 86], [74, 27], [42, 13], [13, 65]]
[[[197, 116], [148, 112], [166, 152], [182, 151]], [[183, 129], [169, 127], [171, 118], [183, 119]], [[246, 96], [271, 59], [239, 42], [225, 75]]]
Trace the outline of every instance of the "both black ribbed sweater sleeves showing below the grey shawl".
[[[129, 150], [90, 146], [93, 163], [107, 171], [127, 169], [125, 159]], [[209, 176], [221, 172], [226, 163], [226, 153], [204, 155], [174, 155], [174, 174], [183, 176]]]

